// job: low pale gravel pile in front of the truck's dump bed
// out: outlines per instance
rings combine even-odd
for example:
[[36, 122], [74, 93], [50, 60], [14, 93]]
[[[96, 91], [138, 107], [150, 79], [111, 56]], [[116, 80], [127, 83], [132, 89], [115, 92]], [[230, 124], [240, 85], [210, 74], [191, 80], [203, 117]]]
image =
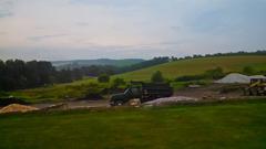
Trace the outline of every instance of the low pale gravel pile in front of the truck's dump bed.
[[198, 100], [197, 98], [193, 98], [193, 97], [174, 96], [174, 97], [166, 97], [166, 98], [150, 100], [144, 103], [144, 106], [162, 106], [162, 105], [172, 105], [172, 104], [183, 103], [183, 102], [197, 102], [197, 100]]

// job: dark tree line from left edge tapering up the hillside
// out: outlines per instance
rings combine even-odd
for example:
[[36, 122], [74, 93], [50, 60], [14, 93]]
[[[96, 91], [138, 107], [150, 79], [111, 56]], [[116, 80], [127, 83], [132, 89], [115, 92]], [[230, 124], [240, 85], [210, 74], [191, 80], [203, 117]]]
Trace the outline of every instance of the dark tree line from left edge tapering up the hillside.
[[166, 57], [155, 57], [127, 67], [91, 65], [59, 71], [50, 62], [45, 61], [24, 62], [22, 60], [8, 60], [3, 62], [0, 60], [0, 91], [33, 88], [54, 83], [70, 83], [84, 76], [113, 75], [166, 62]]

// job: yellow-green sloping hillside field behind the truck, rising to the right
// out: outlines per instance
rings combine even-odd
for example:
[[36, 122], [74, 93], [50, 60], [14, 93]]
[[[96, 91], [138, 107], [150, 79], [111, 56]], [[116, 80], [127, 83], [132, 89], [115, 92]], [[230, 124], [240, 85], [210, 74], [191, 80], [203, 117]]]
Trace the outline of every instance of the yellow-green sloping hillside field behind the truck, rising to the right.
[[242, 72], [245, 66], [252, 66], [255, 71], [266, 71], [266, 56], [219, 56], [182, 60], [129, 72], [116, 77], [143, 81], [150, 79], [154, 72], [161, 71], [166, 78], [176, 78], [183, 75], [202, 74], [217, 66], [222, 67], [224, 72]]

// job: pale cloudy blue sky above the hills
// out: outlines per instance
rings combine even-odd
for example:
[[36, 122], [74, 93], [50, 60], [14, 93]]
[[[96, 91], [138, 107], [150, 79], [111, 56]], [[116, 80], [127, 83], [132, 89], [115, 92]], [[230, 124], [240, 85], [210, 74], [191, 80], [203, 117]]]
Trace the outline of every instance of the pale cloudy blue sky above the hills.
[[266, 50], [266, 0], [0, 0], [0, 58]]

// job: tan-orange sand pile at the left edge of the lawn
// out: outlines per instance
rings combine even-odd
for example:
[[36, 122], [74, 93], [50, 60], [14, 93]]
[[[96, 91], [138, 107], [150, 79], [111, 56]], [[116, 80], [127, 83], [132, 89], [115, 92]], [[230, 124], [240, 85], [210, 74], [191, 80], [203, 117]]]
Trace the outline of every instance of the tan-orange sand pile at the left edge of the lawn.
[[11, 105], [8, 105], [8, 106], [1, 108], [0, 114], [4, 114], [4, 113], [27, 113], [27, 111], [32, 111], [32, 110], [38, 110], [38, 108], [31, 107], [31, 106], [24, 106], [24, 105], [20, 105], [20, 104], [11, 104]]

